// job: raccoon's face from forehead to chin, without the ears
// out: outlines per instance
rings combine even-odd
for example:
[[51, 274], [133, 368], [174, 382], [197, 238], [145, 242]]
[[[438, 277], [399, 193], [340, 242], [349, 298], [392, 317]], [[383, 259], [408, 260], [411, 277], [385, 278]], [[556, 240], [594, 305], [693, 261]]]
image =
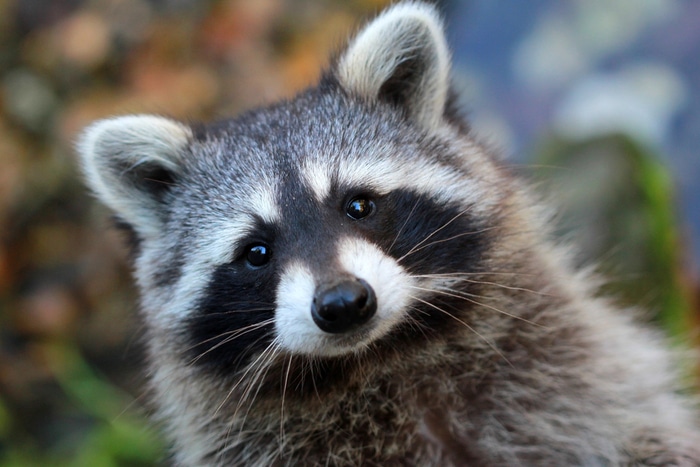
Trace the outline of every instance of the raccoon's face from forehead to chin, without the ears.
[[[338, 94], [332, 117], [314, 116], [306, 99], [331, 101], [307, 95], [200, 129], [190, 143], [200, 156], [170, 188], [166, 236], [181, 237], [173, 249], [184, 260], [172, 262], [184, 266], [167, 306], [184, 310], [173, 318], [198, 363], [231, 368], [266, 349], [336, 357], [435, 332], [436, 317], [454, 318], [440, 311], [449, 295], [429, 291], [478, 268], [475, 181], [449, 151], [433, 157], [439, 141], [390, 108]], [[376, 134], [378, 118], [394, 131]]]

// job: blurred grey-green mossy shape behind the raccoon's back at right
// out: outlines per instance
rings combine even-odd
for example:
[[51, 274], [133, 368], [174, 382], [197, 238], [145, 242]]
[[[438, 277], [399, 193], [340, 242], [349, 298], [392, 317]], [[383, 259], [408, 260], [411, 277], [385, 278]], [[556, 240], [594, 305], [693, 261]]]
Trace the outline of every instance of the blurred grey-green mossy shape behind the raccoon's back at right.
[[673, 180], [660, 155], [620, 134], [551, 138], [537, 163], [547, 191], [558, 196], [558, 234], [583, 246], [582, 262], [597, 265], [606, 291], [651, 310], [670, 335], [687, 341], [691, 307]]

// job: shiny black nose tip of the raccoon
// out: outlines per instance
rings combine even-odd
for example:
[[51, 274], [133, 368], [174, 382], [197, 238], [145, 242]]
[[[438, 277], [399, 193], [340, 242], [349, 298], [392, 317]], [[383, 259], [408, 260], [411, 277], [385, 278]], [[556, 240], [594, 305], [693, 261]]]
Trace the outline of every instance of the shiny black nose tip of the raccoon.
[[322, 331], [339, 334], [365, 324], [377, 311], [374, 290], [362, 279], [348, 279], [316, 291], [311, 317]]

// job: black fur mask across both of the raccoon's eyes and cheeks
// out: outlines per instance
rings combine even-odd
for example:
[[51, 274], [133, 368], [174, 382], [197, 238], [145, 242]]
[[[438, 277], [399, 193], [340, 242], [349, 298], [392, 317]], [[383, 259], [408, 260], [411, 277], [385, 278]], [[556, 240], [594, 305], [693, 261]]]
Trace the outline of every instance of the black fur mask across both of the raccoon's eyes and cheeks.
[[[359, 235], [414, 275], [475, 272], [479, 268], [486, 240], [483, 227], [472, 219], [469, 209], [445, 206], [429, 195], [409, 190], [387, 195], [345, 190], [350, 193], [346, 195], [336, 188], [328, 200], [318, 203], [309, 193], [299, 195], [303, 188], [298, 180], [288, 178], [283, 188], [283, 192], [295, 193], [284, 199], [296, 199], [282, 209], [288, 217], [280, 221], [284, 228], [261, 223], [256, 231], [266, 232], [260, 236], [265, 240], [254, 237], [242, 242], [245, 246], [237, 259], [219, 266], [213, 274], [198, 313], [189, 322], [193, 362], [230, 374], [267, 348], [275, 332], [280, 264], [296, 256], [322, 273], [329, 258], [337, 256], [335, 242], [343, 236]], [[468, 283], [461, 287], [468, 288]], [[435, 307], [451, 311], [458, 304], [464, 306], [463, 300], [444, 295], [427, 300], [434, 306], [413, 305], [415, 319], [434, 329], [450, 322]], [[403, 339], [404, 332], [399, 327], [391, 339]]]

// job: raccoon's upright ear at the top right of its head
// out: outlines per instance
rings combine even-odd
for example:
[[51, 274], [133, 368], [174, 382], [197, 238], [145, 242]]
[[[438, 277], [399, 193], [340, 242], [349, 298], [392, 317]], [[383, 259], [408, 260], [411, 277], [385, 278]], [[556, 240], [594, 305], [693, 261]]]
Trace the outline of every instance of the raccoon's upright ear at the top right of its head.
[[437, 128], [450, 79], [449, 51], [437, 11], [417, 2], [389, 8], [350, 42], [336, 74], [345, 89], [400, 105], [426, 129]]

